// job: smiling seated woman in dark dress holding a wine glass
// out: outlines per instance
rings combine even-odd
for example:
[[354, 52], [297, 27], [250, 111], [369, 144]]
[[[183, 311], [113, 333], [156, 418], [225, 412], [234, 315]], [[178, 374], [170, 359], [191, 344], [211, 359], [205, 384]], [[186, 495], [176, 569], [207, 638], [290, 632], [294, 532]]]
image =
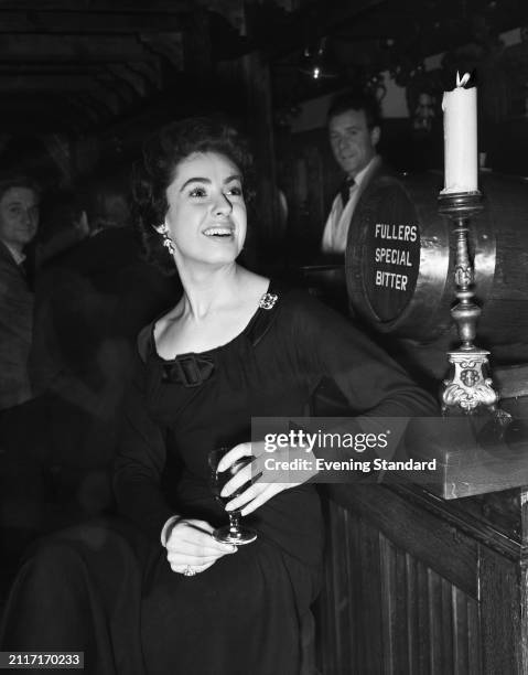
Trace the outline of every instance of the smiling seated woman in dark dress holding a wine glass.
[[[76, 575], [66, 577], [75, 579], [77, 594], [97, 588], [83, 596], [84, 607], [98, 612], [91, 649], [95, 643], [99, 654], [109, 646], [118, 653], [118, 673], [132, 673], [127, 635], [131, 650], [141, 644], [149, 673], [299, 673], [301, 635], [321, 576], [317, 494], [301, 480], [267, 483], [261, 476], [227, 504], [243, 507], [257, 540], [238, 548], [218, 543], [212, 533], [226, 516], [207, 484], [207, 454], [231, 447], [220, 467], [226, 469], [244, 454], [261, 453], [260, 443], [249, 442], [251, 417], [305, 415], [323, 379], [333, 381], [356, 413], [433, 410], [427, 395], [347, 321], [237, 264], [246, 238], [248, 168], [237, 135], [206, 119], [172, 125], [146, 149], [136, 190], [139, 224], [150, 257], [176, 266], [183, 294], [139, 336], [115, 476], [119, 511], [134, 525], [119, 544], [114, 539], [111, 581], [97, 571], [100, 562], [79, 535], [76, 557], [72, 547], [64, 555], [64, 538], [56, 543], [68, 565], [77, 561]], [[250, 469], [243, 471], [226, 494], [247, 480]], [[132, 539], [138, 565], [121, 562], [121, 578], [118, 561], [128, 555], [122, 542]], [[56, 550], [44, 560], [50, 574]], [[10, 636], [17, 644], [9, 649], [36, 649], [13, 629], [12, 617], [44, 585], [45, 575], [28, 583], [39, 565], [33, 560], [22, 570], [26, 589], [19, 580], [3, 649]], [[35, 625], [30, 614], [26, 609]], [[62, 643], [73, 649], [76, 640]], [[99, 663], [98, 672], [111, 672], [110, 661], [107, 669]]]

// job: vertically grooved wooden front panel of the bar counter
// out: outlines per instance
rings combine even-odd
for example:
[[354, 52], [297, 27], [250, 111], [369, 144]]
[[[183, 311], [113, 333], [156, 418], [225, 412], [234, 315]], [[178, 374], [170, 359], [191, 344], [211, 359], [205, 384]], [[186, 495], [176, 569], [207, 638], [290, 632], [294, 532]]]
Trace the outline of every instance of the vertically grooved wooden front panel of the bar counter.
[[[482, 673], [477, 600], [357, 514], [331, 504], [327, 516], [325, 581], [316, 607], [320, 672]], [[459, 555], [453, 546], [445, 553]]]

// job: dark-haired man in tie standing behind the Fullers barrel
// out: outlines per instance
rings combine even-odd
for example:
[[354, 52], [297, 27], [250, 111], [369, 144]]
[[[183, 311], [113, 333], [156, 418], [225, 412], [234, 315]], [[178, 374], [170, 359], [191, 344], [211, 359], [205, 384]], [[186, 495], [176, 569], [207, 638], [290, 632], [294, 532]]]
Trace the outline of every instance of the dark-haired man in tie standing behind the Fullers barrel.
[[363, 92], [338, 94], [328, 108], [327, 126], [332, 152], [345, 176], [332, 203], [321, 248], [324, 254], [344, 254], [354, 211], [368, 184], [384, 172], [377, 154], [379, 104]]

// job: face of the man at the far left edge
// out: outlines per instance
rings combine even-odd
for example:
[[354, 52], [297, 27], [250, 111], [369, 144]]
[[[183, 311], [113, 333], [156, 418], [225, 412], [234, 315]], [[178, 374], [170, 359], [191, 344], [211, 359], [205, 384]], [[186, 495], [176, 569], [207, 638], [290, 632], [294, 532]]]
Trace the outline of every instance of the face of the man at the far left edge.
[[10, 188], [0, 199], [0, 239], [17, 249], [31, 242], [39, 227], [39, 200], [30, 188]]

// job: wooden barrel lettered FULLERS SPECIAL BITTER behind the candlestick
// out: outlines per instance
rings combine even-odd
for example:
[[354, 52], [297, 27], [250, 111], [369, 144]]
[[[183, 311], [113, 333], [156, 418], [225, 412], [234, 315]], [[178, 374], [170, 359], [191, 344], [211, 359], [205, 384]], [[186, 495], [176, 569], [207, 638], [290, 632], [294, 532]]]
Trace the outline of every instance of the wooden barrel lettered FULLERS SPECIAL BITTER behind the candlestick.
[[[368, 189], [348, 232], [351, 309], [380, 333], [421, 343], [453, 333], [452, 224], [438, 213], [441, 173], [384, 176]], [[484, 210], [471, 222], [479, 346], [528, 362], [528, 181], [481, 175]], [[455, 334], [455, 333], [454, 333]]]

